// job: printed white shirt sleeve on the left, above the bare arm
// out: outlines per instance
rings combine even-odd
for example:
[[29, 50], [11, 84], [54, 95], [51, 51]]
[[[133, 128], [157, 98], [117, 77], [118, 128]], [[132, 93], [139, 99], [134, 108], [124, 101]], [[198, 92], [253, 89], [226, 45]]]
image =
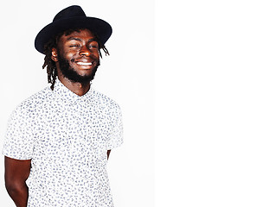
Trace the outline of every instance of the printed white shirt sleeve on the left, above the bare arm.
[[3, 142], [3, 155], [16, 160], [30, 160], [33, 154], [33, 132], [27, 110], [17, 107], [10, 116]]

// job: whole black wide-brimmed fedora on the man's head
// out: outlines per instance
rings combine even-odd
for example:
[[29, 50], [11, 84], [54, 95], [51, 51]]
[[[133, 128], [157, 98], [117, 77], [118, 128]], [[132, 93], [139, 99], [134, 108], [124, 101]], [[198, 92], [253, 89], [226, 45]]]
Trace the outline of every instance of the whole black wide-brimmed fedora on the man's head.
[[70, 6], [62, 9], [53, 22], [49, 23], [35, 37], [35, 49], [44, 53], [44, 45], [56, 34], [64, 32], [69, 28], [88, 28], [97, 34], [102, 45], [106, 43], [112, 34], [112, 27], [109, 23], [95, 17], [86, 16], [80, 6]]

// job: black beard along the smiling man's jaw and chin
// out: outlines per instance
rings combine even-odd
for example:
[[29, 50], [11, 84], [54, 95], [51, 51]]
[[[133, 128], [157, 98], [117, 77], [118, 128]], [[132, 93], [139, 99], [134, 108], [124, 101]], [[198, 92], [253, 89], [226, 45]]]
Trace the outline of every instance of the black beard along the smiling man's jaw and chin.
[[[97, 72], [97, 69], [100, 65], [99, 60], [97, 58], [91, 57], [91, 59], [97, 62], [96, 66], [93, 68], [93, 71], [90, 75], [81, 76], [80, 74], [75, 72], [73, 67], [69, 65], [68, 60], [65, 59], [60, 53], [58, 53], [58, 62], [62, 75], [65, 78], [71, 80], [72, 82], [80, 83], [82, 85], [85, 85], [93, 80], [95, 73]], [[71, 62], [74, 62], [74, 60], [72, 59]]]

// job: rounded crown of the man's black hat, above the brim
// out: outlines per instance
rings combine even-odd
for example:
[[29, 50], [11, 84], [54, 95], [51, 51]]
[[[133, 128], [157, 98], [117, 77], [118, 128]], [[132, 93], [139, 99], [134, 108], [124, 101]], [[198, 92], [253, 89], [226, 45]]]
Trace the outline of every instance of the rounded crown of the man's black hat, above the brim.
[[83, 9], [81, 9], [80, 6], [70, 6], [66, 9], [62, 9], [56, 16], [54, 16], [54, 21], [78, 16], [86, 17], [86, 14], [83, 11]]

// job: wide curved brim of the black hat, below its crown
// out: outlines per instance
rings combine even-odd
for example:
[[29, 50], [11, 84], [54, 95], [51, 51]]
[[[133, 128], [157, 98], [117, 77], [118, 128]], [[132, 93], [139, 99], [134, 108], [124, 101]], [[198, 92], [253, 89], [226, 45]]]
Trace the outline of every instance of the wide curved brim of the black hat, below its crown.
[[106, 43], [112, 34], [112, 27], [109, 23], [95, 17], [77, 16], [61, 19], [49, 23], [35, 37], [35, 49], [44, 53], [44, 45], [56, 34], [64, 32], [70, 28], [88, 28], [97, 34], [102, 45]]

